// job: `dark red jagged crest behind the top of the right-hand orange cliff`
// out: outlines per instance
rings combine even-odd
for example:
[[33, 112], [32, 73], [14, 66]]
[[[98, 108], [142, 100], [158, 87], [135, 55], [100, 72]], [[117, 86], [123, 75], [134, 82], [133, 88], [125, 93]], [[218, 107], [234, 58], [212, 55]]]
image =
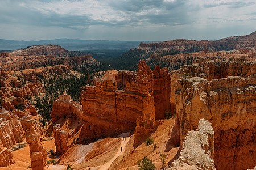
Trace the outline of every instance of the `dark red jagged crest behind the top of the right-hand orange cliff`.
[[[171, 89], [176, 88], [176, 81], [186, 76], [199, 76], [207, 80], [227, 78], [228, 76], [247, 77], [256, 74], [256, 62], [247, 62], [244, 57], [229, 58], [228, 61], [217, 65], [207, 59], [196, 59], [192, 65], [181, 66], [179, 70], [171, 72]], [[175, 103], [174, 90], [171, 92], [171, 103]]]

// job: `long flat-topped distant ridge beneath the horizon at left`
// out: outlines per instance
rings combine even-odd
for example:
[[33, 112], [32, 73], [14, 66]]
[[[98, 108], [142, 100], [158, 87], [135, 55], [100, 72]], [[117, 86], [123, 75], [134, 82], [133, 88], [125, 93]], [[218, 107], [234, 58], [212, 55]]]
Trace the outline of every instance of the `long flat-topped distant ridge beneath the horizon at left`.
[[[6, 65], [6, 62], [9, 65]], [[0, 66], [3, 71], [55, 65], [68, 65], [83, 73], [107, 69], [105, 64], [98, 62], [92, 55], [80, 51], [69, 51], [59, 45], [34, 45], [13, 52], [0, 53]]]

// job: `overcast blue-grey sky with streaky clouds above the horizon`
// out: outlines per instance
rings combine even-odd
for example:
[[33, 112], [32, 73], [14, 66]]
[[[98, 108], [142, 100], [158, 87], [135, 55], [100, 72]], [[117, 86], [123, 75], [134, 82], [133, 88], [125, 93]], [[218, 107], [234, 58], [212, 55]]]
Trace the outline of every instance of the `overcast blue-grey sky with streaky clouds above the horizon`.
[[1, 0], [0, 39], [218, 40], [256, 31], [255, 0]]

